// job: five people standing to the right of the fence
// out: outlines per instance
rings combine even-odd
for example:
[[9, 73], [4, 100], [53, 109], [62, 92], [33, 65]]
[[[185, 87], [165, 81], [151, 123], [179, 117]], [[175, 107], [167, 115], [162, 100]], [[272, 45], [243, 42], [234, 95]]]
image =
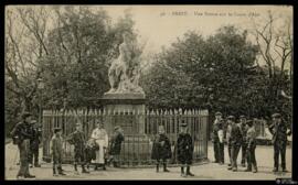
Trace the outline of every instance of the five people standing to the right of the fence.
[[[287, 135], [291, 134], [291, 128], [281, 119], [280, 113], [272, 115], [272, 123], [268, 126], [273, 134], [274, 145], [274, 170], [278, 172], [279, 154], [281, 156], [281, 170], [286, 170], [286, 145]], [[240, 117], [240, 123], [235, 122], [234, 116], [228, 116], [226, 121], [222, 118], [221, 112], [215, 113], [215, 120], [212, 129], [212, 141], [214, 149], [214, 163], [224, 164], [224, 143], [227, 144], [228, 167], [233, 172], [237, 171], [237, 156], [242, 150], [241, 164], [247, 167], [245, 172], [257, 172], [257, 162], [255, 156], [256, 150], [256, 130], [253, 120], [246, 120], [245, 116]]]

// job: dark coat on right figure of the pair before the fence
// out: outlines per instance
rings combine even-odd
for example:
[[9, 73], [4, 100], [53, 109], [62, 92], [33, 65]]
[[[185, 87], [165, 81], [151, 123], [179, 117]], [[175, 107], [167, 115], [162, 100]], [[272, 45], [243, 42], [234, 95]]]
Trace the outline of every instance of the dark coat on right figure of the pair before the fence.
[[179, 133], [177, 149], [178, 160], [180, 162], [192, 161], [193, 143], [189, 133]]

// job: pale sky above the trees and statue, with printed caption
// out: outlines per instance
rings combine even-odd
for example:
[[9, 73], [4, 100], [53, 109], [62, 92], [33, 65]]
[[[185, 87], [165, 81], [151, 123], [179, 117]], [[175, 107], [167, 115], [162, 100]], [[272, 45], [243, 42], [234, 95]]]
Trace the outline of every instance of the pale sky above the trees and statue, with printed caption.
[[252, 18], [262, 21], [270, 10], [275, 15], [292, 17], [291, 7], [281, 6], [104, 6], [116, 21], [129, 11], [136, 30], [147, 41], [145, 50], [158, 52], [169, 46], [187, 31], [194, 30], [204, 36], [214, 34], [222, 25], [234, 24], [252, 29]]

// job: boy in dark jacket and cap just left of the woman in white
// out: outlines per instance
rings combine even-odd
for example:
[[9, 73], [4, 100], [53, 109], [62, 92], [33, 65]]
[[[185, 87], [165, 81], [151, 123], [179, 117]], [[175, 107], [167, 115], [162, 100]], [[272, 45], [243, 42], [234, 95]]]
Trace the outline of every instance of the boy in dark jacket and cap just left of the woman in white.
[[83, 128], [81, 123], [76, 123], [76, 130], [68, 135], [66, 139], [71, 144], [74, 144], [74, 153], [75, 153], [75, 161], [74, 161], [74, 168], [77, 173], [77, 164], [81, 163], [82, 165], [82, 173], [89, 173], [85, 168], [86, 159], [85, 159], [85, 146], [86, 140], [83, 133]]

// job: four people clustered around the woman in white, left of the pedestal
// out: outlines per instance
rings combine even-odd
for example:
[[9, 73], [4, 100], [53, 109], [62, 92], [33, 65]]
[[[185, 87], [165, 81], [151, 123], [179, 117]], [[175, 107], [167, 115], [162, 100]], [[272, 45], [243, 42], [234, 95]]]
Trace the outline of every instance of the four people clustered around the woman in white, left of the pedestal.
[[[123, 129], [117, 126], [114, 129], [109, 144], [109, 138], [104, 128], [104, 123], [97, 120], [96, 128], [87, 140], [83, 132], [82, 123], [76, 123], [75, 131], [65, 139], [66, 142], [74, 145], [75, 173], [79, 174], [77, 165], [82, 166], [82, 173], [89, 173], [88, 170], [91, 163], [95, 164], [95, 171], [99, 167], [103, 167], [103, 170], [106, 171], [106, 164], [110, 164], [111, 162], [114, 167], [119, 167], [119, 154], [124, 139]], [[54, 135], [51, 140], [54, 176], [66, 175], [62, 170], [63, 142], [62, 129], [54, 128]]]

